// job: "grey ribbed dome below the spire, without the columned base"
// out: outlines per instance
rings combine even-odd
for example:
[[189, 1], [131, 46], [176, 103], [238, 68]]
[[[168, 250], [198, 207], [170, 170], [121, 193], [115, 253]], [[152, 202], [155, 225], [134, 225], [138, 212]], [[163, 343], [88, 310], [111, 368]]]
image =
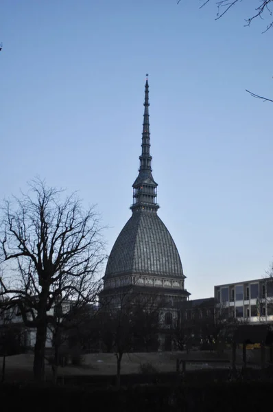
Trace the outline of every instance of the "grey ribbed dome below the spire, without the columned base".
[[155, 211], [133, 211], [112, 247], [105, 277], [131, 273], [185, 277], [176, 244]]

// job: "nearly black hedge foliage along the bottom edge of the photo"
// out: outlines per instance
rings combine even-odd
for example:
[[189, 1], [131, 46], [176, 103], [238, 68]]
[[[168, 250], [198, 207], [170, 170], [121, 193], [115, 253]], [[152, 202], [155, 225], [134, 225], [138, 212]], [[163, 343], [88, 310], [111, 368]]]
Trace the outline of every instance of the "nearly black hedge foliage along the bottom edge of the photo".
[[[137, 386], [128, 389], [79, 389], [75, 387], [1, 387], [1, 402], [8, 410], [29, 406], [39, 411], [90, 411], [91, 405], [102, 410], [134, 411], [257, 411], [270, 404], [271, 384], [265, 382], [213, 385]], [[40, 400], [43, 399], [43, 402]]]

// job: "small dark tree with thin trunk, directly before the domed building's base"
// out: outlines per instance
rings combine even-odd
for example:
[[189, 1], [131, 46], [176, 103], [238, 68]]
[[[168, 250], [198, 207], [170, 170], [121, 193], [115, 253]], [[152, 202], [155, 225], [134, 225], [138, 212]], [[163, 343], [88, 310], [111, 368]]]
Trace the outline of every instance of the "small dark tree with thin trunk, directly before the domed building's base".
[[[143, 293], [141, 286], [124, 285], [104, 303], [104, 344], [117, 358], [117, 387], [120, 386], [123, 354], [141, 346], [156, 345], [160, 312], [165, 306], [161, 295]], [[111, 349], [110, 349], [111, 348]], [[156, 347], [157, 350], [157, 347]]]

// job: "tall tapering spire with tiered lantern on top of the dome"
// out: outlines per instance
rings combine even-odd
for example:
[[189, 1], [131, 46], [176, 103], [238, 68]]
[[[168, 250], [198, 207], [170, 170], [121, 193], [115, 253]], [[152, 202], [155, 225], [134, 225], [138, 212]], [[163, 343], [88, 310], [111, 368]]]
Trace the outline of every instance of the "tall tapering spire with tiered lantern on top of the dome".
[[156, 211], [159, 207], [156, 203], [157, 183], [154, 181], [152, 176], [149, 106], [149, 83], [148, 75], [146, 74], [141, 156], [139, 157], [139, 176], [132, 185], [134, 188], [133, 205], [131, 206], [132, 211], [139, 209]]

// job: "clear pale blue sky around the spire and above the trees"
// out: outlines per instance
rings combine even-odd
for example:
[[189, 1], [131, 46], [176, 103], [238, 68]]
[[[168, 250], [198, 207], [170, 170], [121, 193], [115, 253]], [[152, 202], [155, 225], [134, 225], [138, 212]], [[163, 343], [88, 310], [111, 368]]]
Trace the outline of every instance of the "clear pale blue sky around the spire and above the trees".
[[[130, 217], [145, 73], [158, 214], [193, 298], [263, 277], [273, 255], [272, 35], [256, 1], [2, 0], [0, 198], [37, 174], [102, 212], [108, 253]], [[248, 9], [246, 9], [248, 7]]]

